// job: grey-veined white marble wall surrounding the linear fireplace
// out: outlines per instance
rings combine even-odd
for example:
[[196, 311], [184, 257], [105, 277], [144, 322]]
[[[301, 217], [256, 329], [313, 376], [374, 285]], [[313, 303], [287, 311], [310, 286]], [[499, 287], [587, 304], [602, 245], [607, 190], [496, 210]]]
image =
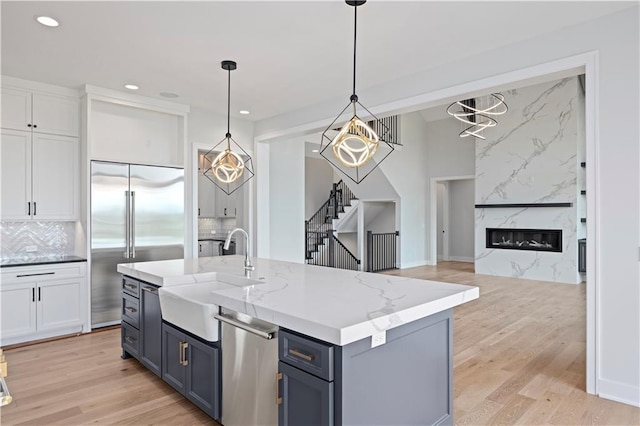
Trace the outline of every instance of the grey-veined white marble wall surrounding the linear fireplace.
[[[476, 204], [572, 203], [571, 207], [477, 208], [479, 274], [579, 283], [577, 169], [580, 115], [577, 77], [505, 93], [509, 111], [476, 140]], [[486, 228], [562, 229], [563, 251], [496, 250]]]

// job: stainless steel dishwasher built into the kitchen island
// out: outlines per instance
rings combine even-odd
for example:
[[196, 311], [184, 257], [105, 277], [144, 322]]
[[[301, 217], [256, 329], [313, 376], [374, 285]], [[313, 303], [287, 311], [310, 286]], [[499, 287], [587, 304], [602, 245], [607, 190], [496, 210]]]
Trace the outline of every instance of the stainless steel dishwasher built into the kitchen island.
[[278, 424], [278, 326], [222, 309], [222, 424]]

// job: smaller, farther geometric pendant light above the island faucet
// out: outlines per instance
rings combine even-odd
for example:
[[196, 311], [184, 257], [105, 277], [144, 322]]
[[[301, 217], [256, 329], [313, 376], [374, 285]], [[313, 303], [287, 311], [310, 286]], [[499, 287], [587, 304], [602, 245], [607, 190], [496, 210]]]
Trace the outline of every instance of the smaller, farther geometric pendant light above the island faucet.
[[[220, 142], [204, 155], [204, 175], [227, 195], [233, 193], [254, 176], [251, 157], [231, 137], [231, 71], [237, 68], [234, 61], [222, 61], [222, 69], [228, 72], [227, 85], [227, 133]], [[231, 149], [231, 143], [235, 150]], [[206, 164], [205, 163], [205, 164]]]

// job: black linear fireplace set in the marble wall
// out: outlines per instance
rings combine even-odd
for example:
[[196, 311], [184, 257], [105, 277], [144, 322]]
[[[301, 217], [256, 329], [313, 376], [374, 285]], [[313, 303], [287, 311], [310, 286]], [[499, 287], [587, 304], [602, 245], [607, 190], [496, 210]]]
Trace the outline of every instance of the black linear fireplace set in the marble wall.
[[562, 230], [487, 228], [487, 248], [562, 252]]

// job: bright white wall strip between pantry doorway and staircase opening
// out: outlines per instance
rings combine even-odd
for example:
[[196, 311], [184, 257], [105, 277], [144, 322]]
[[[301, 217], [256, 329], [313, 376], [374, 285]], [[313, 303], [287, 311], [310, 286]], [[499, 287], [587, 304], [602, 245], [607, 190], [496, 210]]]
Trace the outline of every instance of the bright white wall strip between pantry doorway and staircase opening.
[[304, 143], [277, 141], [269, 148], [275, 165], [269, 170], [270, 258], [304, 263]]

